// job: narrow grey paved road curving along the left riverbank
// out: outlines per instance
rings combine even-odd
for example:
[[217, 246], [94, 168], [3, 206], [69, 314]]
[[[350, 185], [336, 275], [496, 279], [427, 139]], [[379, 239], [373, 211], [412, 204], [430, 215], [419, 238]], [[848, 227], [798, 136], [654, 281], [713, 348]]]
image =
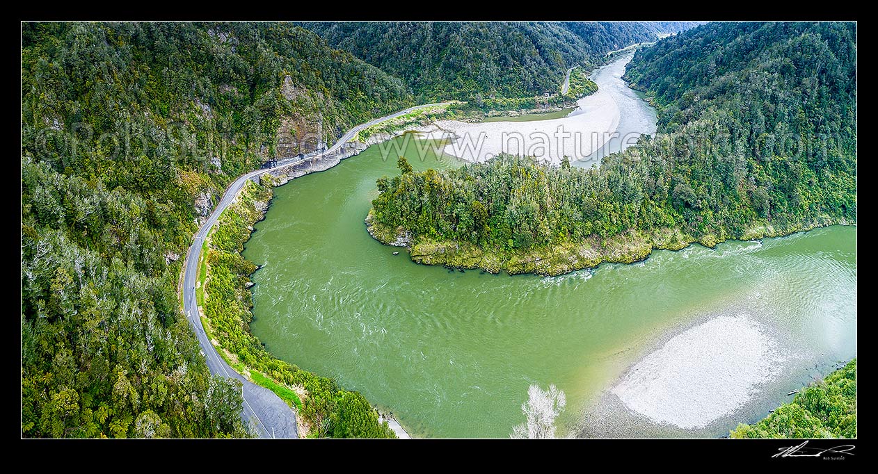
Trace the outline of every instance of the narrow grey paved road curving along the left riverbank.
[[351, 128], [348, 133], [342, 135], [342, 138], [335, 142], [335, 145], [321, 154], [313, 154], [302, 159], [294, 158], [278, 162], [275, 168], [257, 169], [246, 175], [239, 176], [238, 179], [234, 180], [234, 183], [228, 187], [223, 197], [219, 199], [219, 204], [216, 209], [213, 210], [210, 217], [207, 218], [205, 224], [198, 229], [198, 233], [195, 233], [192, 246], [189, 248], [189, 253], [186, 257], [186, 267], [184, 268], [183, 310], [186, 313], [186, 319], [189, 320], [189, 323], [195, 330], [195, 334], [198, 336], [198, 344], [201, 345], [201, 351], [205, 354], [205, 361], [207, 362], [207, 367], [211, 370], [211, 373], [222, 377], [237, 378], [238, 380], [241, 380], [242, 384], [244, 384], [244, 419], [249, 420], [250, 424], [255, 427], [256, 432], [261, 438], [299, 437], [299, 432], [296, 429], [296, 414], [292, 411], [290, 406], [287, 406], [284, 400], [279, 399], [273, 391], [253, 384], [232, 369], [226, 361], [219, 356], [211, 341], [207, 339], [205, 329], [201, 326], [201, 319], [198, 317], [198, 302], [195, 298], [195, 284], [198, 281], [198, 260], [201, 257], [201, 246], [204, 244], [207, 234], [210, 233], [212, 226], [216, 223], [217, 219], [219, 219], [219, 214], [221, 214], [228, 205], [232, 204], [234, 197], [238, 195], [238, 191], [241, 190], [241, 187], [243, 187], [248, 179], [254, 179], [256, 176], [262, 175], [272, 169], [289, 166], [296, 162], [305, 162], [316, 156], [331, 154], [349, 140], [353, 139], [356, 136], [356, 133], [363, 130], [363, 128], [373, 126], [391, 118], [397, 118], [400, 115], [405, 115], [416, 109], [434, 107], [442, 104], [447, 103], [416, 105], [403, 111], [394, 112], [382, 118], [376, 118], [362, 125]]

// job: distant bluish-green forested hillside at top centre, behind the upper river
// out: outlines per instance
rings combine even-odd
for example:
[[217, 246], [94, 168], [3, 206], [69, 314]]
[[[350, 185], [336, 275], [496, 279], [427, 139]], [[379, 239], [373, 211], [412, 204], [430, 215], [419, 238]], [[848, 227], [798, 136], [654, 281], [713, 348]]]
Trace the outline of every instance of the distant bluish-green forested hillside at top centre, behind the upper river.
[[333, 47], [404, 79], [418, 102], [555, 93], [567, 68], [693, 22], [314, 22]]

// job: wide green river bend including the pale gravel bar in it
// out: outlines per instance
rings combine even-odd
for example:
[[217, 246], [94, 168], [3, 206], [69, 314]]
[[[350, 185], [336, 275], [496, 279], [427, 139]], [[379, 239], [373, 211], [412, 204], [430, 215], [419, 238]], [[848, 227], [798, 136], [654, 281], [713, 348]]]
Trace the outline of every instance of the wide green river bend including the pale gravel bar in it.
[[[393, 144], [415, 169], [460, 164]], [[396, 154], [373, 146], [277, 188], [244, 256], [264, 265], [251, 329], [267, 348], [414, 436], [506, 437], [529, 384], [565, 391], [562, 434], [719, 436], [856, 355], [854, 226], [562, 277], [450, 271], [365, 231]]]

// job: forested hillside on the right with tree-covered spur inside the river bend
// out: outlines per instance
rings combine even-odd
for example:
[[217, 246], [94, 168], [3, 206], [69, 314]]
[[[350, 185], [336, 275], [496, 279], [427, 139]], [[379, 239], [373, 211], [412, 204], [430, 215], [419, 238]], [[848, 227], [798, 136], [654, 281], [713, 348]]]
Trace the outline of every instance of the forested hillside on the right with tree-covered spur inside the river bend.
[[598, 169], [500, 156], [381, 179], [372, 232], [408, 233], [420, 262], [558, 274], [855, 222], [855, 33], [719, 23], [663, 39], [627, 72], [659, 106], [659, 137]]

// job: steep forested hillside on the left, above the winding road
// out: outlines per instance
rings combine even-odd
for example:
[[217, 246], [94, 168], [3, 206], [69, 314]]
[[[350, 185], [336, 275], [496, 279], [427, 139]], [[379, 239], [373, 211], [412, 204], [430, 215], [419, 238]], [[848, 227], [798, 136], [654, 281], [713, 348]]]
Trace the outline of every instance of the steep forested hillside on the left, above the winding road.
[[295, 25], [22, 30], [22, 435], [245, 435], [180, 313], [197, 219], [279, 142], [412, 97]]

